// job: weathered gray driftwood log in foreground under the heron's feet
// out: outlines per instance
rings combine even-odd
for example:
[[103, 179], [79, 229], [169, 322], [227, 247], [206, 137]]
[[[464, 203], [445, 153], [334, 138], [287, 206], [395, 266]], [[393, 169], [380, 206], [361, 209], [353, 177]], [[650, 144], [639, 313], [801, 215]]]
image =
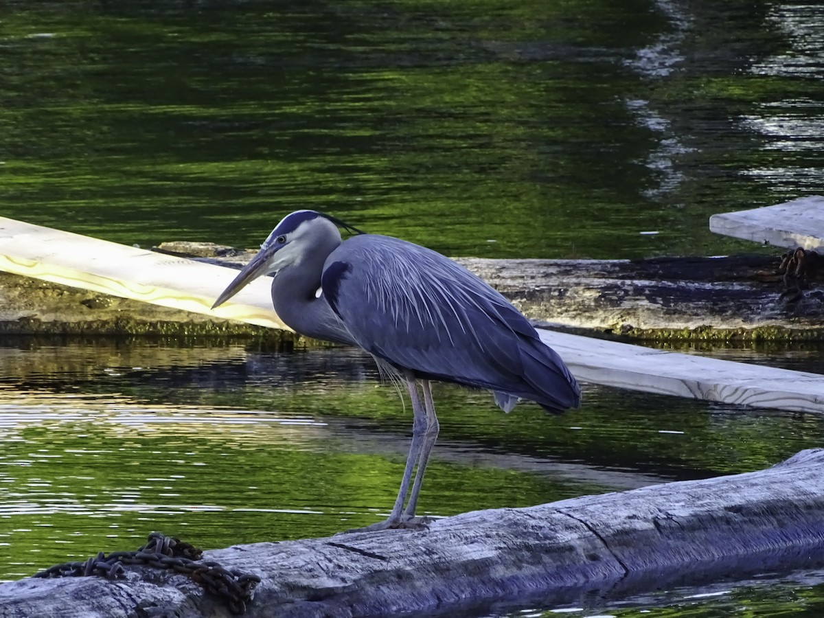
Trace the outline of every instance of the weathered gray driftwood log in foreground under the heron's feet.
[[[442, 614], [514, 598], [580, 602], [798, 569], [824, 558], [824, 449], [764, 471], [531, 508], [465, 513], [424, 531], [347, 533], [206, 552], [260, 575], [247, 616]], [[194, 541], [190, 539], [189, 541]], [[0, 616], [227, 616], [181, 575], [0, 584]]]

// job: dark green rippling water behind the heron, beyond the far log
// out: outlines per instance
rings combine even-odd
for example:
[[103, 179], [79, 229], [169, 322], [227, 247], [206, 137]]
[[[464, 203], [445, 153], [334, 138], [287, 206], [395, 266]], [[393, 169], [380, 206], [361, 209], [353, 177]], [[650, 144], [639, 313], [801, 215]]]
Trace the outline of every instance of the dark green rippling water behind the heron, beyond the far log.
[[824, 193], [822, 25], [750, 0], [11, 0], [0, 211], [143, 246], [256, 246], [323, 208], [448, 255], [741, 250], [710, 214]]

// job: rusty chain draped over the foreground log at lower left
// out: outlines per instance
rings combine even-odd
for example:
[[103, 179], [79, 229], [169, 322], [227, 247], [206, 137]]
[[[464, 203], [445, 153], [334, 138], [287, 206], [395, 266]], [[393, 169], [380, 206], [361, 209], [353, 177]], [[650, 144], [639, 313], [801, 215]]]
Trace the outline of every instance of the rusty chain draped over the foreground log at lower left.
[[189, 543], [160, 532], [152, 532], [146, 545], [135, 551], [102, 551], [86, 561], [56, 564], [32, 575], [35, 578], [87, 577], [97, 575], [106, 579], [126, 577], [124, 564], [167, 569], [188, 575], [206, 592], [227, 603], [232, 613], [242, 614], [246, 603], [254, 596], [255, 586], [260, 583], [257, 575], [225, 569], [213, 560], [200, 561], [203, 551]]

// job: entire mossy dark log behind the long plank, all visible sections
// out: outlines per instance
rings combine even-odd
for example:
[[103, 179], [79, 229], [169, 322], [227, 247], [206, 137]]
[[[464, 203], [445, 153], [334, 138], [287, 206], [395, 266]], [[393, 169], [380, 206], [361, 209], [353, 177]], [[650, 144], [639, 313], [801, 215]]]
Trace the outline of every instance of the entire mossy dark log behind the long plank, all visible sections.
[[[166, 243], [174, 255], [243, 265], [251, 253]], [[824, 337], [824, 273], [785, 294], [780, 255], [651, 260], [457, 260], [528, 317], [567, 328], [658, 339]], [[0, 273], [0, 332], [221, 335], [274, 331]]]

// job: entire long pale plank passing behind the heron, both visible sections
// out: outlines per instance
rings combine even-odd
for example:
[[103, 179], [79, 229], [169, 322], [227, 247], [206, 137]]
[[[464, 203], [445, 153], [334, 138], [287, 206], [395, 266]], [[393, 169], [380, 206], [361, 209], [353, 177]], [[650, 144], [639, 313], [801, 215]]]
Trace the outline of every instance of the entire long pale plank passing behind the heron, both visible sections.
[[[0, 218], [0, 269], [270, 328], [269, 282], [210, 309], [236, 270]], [[733, 404], [824, 413], [824, 377], [542, 331], [585, 382]]]

